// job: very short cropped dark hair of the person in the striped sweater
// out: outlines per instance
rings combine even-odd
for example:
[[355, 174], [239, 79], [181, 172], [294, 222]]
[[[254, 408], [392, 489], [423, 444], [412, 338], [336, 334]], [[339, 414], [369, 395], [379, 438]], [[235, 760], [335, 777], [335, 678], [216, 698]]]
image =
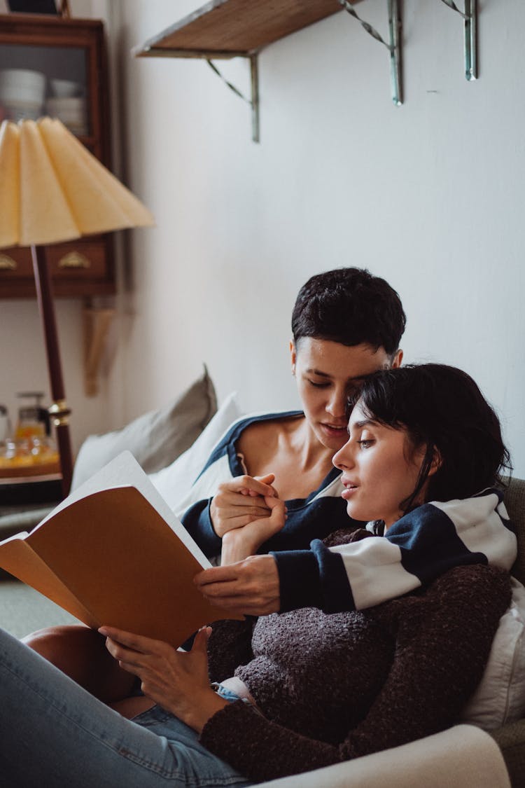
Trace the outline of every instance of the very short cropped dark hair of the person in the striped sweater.
[[344, 345], [370, 344], [393, 356], [405, 331], [394, 288], [366, 269], [337, 268], [303, 284], [292, 313], [294, 343], [303, 336]]

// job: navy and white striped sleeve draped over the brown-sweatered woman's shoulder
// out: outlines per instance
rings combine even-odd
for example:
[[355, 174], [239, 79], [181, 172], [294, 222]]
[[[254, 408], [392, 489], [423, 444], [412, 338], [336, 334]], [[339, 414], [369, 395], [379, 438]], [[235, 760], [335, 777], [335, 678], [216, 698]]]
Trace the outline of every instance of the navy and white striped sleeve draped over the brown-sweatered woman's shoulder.
[[325, 612], [364, 610], [395, 599], [453, 567], [491, 564], [510, 570], [516, 535], [502, 494], [424, 504], [385, 537], [327, 548], [272, 553], [279, 571], [280, 612], [314, 606]]

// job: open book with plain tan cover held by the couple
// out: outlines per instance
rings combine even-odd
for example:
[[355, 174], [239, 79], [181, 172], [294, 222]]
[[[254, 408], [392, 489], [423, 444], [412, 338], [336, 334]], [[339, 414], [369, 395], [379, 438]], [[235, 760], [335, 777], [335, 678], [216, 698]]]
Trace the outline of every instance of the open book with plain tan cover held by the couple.
[[130, 452], [72, 492], [31, 533], [0, 542], [0, 567], [87, 626], [179, 646], [200, 626], [242, 619], [192, 578], [209, 560]]

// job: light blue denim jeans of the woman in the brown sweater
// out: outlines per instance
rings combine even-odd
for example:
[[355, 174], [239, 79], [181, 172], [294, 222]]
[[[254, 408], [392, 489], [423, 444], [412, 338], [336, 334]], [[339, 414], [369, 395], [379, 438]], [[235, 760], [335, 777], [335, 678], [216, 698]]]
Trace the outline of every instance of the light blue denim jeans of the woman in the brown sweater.
[[[224, 697], [235, 700], [229, 693]], [[0, 630], [0, 784], [9, 788], [227, 788], [252, 783], [160, 706], [135, 719], [97, 701]]]

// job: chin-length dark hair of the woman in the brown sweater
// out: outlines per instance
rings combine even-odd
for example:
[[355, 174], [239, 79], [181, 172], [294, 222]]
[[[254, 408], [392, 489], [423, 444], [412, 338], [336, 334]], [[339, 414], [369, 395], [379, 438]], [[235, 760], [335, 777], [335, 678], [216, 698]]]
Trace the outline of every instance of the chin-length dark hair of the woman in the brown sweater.
[[[349, 412], [357, 400], [367, 418], [407, 429], [413, 448], [426, 449], [404, 511], [413, 507], [427, 478], [426, 500], [453, 500], [501, 482], [501, 470], [510, 470], [494, 409], [470, 375], [456, 367], [416, 364], [381, 370], [350, 396]], [[429, 477], [436, 450], [441, 464]]]

